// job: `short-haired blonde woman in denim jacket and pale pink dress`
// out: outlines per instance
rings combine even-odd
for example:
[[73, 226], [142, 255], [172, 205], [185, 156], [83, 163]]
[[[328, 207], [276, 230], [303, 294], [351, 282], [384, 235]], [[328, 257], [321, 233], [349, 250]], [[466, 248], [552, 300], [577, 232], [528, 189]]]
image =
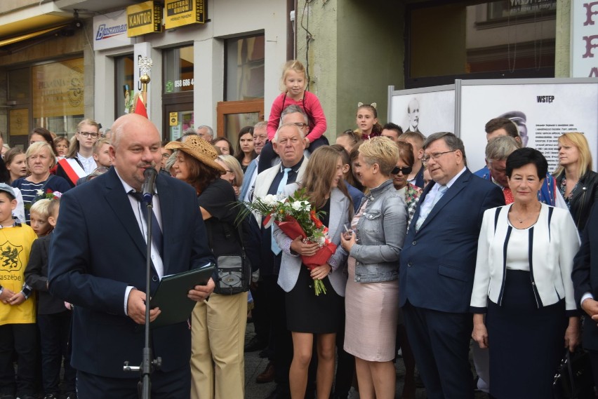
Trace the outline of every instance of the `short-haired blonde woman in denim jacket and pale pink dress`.
[[359, 397], [393, 399], [399, 314], [399, 253], [407, 231], [405, 202], [392, 184], [399, 149], [386, 137], [359, 147], [355, 173], [370, 190], [341, 243], [348, 252], [345, 351], [355, 356]]

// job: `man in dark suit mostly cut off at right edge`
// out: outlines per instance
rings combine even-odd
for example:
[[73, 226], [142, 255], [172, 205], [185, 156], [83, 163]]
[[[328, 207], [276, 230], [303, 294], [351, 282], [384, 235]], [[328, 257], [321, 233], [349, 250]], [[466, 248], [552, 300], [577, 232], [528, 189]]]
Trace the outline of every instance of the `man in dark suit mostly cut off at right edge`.
[[590, 353], [594, 384], [598, 386], [598, 207], [592, 207], [571, 272], [575, 300], [592, 320], [583, 325], [583, 347]]

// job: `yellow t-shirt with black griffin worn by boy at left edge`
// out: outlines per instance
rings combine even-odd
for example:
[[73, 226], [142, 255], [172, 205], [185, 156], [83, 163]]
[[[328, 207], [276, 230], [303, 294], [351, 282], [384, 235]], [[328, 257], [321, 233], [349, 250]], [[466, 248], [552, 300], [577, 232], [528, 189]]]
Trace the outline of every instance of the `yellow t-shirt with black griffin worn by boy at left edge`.
[[[37, 238], [27, 224], [0, 229], [0, 285], [15, 293], [25, 283], [25, 268], [31, 245]], [[35, 296], [20, 305], [0, 302], [0, 325], [35, 323]]]

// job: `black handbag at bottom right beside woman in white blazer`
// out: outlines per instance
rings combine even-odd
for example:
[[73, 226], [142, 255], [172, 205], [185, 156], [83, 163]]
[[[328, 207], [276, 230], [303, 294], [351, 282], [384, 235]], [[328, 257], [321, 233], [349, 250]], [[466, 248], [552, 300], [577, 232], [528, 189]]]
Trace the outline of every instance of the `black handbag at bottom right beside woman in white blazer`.
[[594, 398], [590, 353], [580, 347], [574, 352], [565, 349], [557, 374], [554, 374], [552, 395], [554, 399]]

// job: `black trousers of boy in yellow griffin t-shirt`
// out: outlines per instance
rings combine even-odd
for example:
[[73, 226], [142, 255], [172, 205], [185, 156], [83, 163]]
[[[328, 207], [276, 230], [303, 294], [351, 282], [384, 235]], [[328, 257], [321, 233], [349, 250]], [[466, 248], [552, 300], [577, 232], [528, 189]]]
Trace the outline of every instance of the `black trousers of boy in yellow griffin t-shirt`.
[[[13, 366], [15, 353], [18, 365], [16, 376]], [[0, 326], [0, 393], [34, 394], [36, 354], [35, 323]]]

